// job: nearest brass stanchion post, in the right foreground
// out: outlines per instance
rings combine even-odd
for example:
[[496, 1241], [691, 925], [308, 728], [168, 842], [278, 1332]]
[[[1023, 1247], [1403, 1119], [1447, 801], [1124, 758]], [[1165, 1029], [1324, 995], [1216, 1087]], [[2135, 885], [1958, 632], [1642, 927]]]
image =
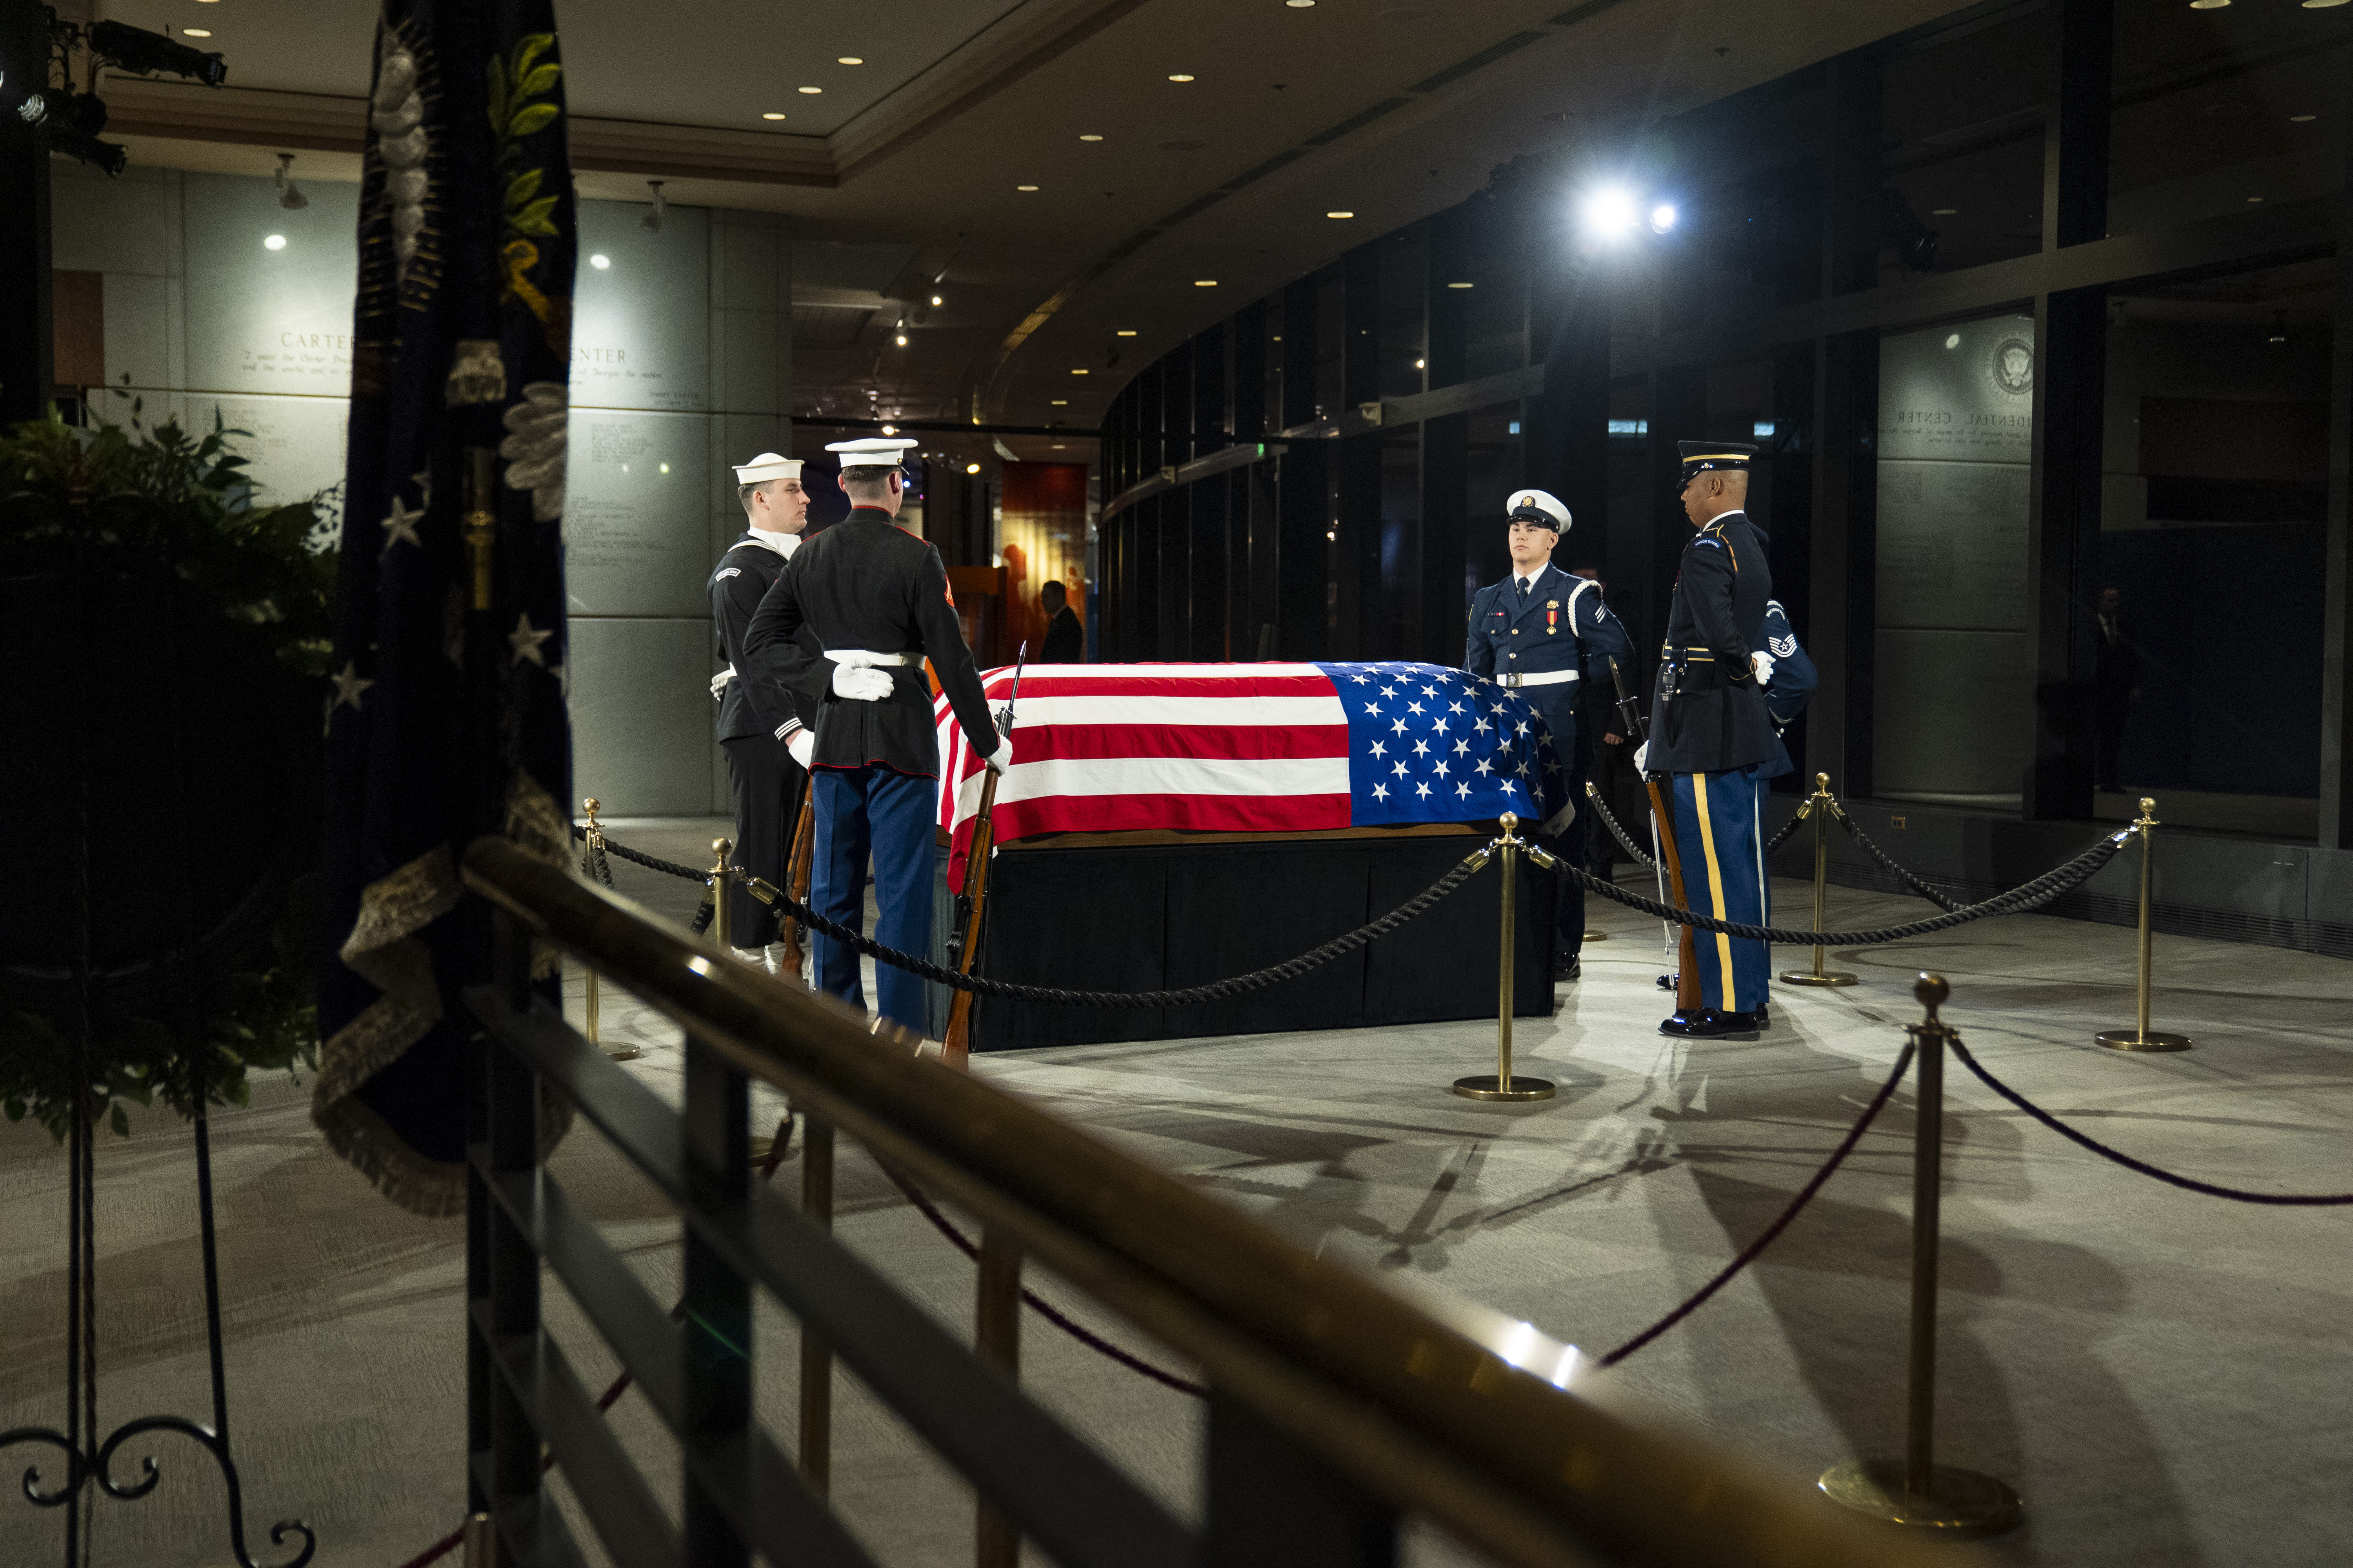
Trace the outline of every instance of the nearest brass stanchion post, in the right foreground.
[[2019, 1523], [2019, 1495], [1974, 1469], [1937, 1465], [1937, 1208], [1944, 1194], [1944, 1041], [1937, 1006], [1953, 994], [1922, 973], [1913, 997], [1927, 1018], [1911, 1025], [1918, 1046], [1913, 1093], [1913, 1300], [1906, 1361], [1904, 1458], [1849, 1460], [1821, 1472], [1821, 1490], [1845, 1507], [1948, 1535], [1998, 1535]]

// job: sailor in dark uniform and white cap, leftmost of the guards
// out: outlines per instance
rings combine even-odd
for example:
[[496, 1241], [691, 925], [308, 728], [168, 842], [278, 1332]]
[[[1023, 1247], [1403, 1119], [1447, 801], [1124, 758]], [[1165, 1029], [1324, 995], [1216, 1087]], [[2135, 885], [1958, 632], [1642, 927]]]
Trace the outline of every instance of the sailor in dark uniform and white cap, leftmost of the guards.
[[[751, 463], [736, 463], [736, 498], [744, 503], [744, 538], [711, 569], [711, 635], [727, 665], [711, 677], [711, 696], [720, 705], [720, 750], [727, 752], [727, 783], [736, 799], [736, 865], [786, 886], [793, 825], [809, 783], [814, 736], [805, 719], [816, 710], [791, 689], [741, 672], [751, 670], [744, 651], [751, 618], [784, 574], [809, 520], [800, 458], [762, 451]], [[776, 910], [741, 884], [729, 896], [727, 940], [746, 964], [776, 971]]]

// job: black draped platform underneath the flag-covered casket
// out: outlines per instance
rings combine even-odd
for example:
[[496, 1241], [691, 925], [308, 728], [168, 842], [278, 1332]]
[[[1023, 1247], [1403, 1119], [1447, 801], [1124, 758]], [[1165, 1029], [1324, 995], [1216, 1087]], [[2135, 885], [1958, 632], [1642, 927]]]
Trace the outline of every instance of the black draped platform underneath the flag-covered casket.
[[[1073, 990], [1176, 990], [1249, 973], [1379, 919], [1492, 832], [1367, 830], [1136, 844], [1031, 839], [998, 853], [979, 971]], [[1151, 835], [1167, 837], [1167, 835]], [[1553, 879], [1520, 860], [1513, 1013], [1553, 1011]], [[1073, 1009], [984, 997], [974, 1051], [1118, 1039], [1353, 1030], [1497, 1016], [1501, 867], [1367, 947], [1261, 992], [1184, 1009]]]

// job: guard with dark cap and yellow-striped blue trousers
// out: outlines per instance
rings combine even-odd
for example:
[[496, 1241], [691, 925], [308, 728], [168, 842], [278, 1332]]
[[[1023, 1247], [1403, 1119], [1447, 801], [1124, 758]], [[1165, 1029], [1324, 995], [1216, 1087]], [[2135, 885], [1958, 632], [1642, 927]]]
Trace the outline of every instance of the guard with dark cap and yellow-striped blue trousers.
[[[1673, 776], [1675, 849], [1689, 905], [1715, 919], [1765, 922], [1765, 856], [1758, 825], [1765, 764], [1774, 755], [1765, 686], [1772, 569], [1748, 512], [1748, 458], [1739, 442], [1682, 442], [1682, 512], [1697, 534], [1682, 550], [1666, 646], [1649, 698], [1645, 773]], [[1765, 1027], [1772, 954], [1713, 931], [1694, 933], [1697, 1016], [1675, 1011], [1661, 1034], [1755, 1037]]]

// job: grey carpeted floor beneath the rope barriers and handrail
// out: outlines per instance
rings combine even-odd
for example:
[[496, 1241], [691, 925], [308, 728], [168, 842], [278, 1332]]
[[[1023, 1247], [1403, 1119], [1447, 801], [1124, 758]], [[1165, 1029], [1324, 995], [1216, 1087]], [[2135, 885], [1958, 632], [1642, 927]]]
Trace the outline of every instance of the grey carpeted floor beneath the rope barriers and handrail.
[[[718, 823], [616, 823], [699, 863]], [[621, 891], [682, 919], [699, 893], [614, 860]], [[1800, 889], [1777, 891], [1784, 912]], [[2266, 1192], [2353, 1190], [2353, 966], [2158, 938], [2158, 1027], [2181, 1056], [2094, 1048], [2129, 1023], [2132, 933], [2012, 917], [1852, 954], [1852, 990], [1779, 987], [1755, 1044], [1671, 1046], [1654, 1025], [1659, 929], [1593, 900], [1609, 940], [1520, 1020], [1520, 1070], [1555, 1100], [1482, 1107], [1445, 1088], [1492, 1072], [1492, 1025], [1087, 1046], [981, 1058], [1122, 1147], [1186, 1173], [1327, 1255], [1454, 1291], [1602, 1352], [1673, 1307], [1786, 1204], [1875, 1091], [1918, 1018], [1911, 976], [1953, 980], [1948, 1020], [2038, 1103], [2129, 1152]], [[1833, 924], [1911, 919], [1908, 898], [1835, 891]], [[1395, 940], [1412, 940], [1409, 931]], [[1273, 957], [1273, 954], [1271, 954]], [[1802, 961], [1781, 952], [1781, 964]], [[572, 983], [574, 1016], [579, 983]], [[675, 1095], [659, 1020], [607, 997], [607, 1044]], [[461, 1227], [379, 1201], [308, 1126], [306, 1086], [256, 1084], [214, 1121], [231, 1420], [252, 1554], [301, 1516], [327, 1568], [398, 1568], [461, 1507]], [[2014, 1563], [2341, 1563], [2353, 1526], [2353, 1213], [2228, 1204], [2094, 1159], [1948, 1072], [1939, 1460], [2002, 1476], [2028, 1526]], [[776, 1103], [755, 1103], [755, 1126]], [[193, 1159], [186, 1126], [134, 1117], [99, 1147], [101, 1427], [205, 1415]], [[1814, 1206], [1715, 1302], [1619, 1373], [1640, 1396], [1809, 1486], [1901, 1443], [1911, 1091]], [[656, 1295], [675, 1220], [588, 1131], [555, 1154]], [[779, 1180], [795, 1180], [786, 1164]], [[960, 1331], [972, 1269], [854, 1150], [840, 1234]], [[1089, 1321], [1104, 1314], [1052, 1281]], [[612, 1361], [560, 1291], [551, 1324], [591, 1387]], [[64, 1159], [0, 1126], [0, 1429], [64, 1420]], [[1108, 1324], [1106, 1324], [1108, 1326]], [[1113, 1333], [1120, 1333], [1113, 1328]], [[1134, 1335], [1122, 1340], [1148, 1354]], [[793, 1331], [758, 1324], [760, 1403], [791, 1434]], [[1024, 1382], [1176, 1507], [1193, 1507], [1200, 1413], [1031, 1319]], [[835, 1497], [889, 1563], [965, 1563], [969, 1493], [845, 1380]], [[638, 1399], [616, 1427], [673, 1450]], [[92, 1563], [228, 1563], [216, 1472], [160, 1436], [155, 1495], [94, 1507]], [[56, 1460], [9, 1448], [9, 1476]], [[675, 1490], [675, 1488], [668, 1488]], [[56, 1563], [59, 1512], [0, 1495], [0, 1566]], [[1417, 1561], [1452, 1561], [1417, 1537]]]

